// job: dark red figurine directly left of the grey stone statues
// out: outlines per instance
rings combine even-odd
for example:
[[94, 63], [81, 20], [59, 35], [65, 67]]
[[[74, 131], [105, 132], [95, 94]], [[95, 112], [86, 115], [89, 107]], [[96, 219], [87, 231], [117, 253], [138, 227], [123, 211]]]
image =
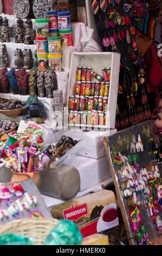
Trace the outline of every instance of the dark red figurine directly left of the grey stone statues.
[[27, 95], [29, 93], [28, 73], [24, 68], [15, 72], [17, 77], [18, 91], [20, 95]]

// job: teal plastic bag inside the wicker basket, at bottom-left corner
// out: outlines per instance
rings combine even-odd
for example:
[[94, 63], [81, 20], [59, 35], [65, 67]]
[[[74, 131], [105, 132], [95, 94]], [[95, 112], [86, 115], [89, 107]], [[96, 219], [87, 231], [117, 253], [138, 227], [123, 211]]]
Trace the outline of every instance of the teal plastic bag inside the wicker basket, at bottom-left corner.
[[0, 245], [34, 245], [34, 243], [23, 235], [5, 234], [0, 236]]

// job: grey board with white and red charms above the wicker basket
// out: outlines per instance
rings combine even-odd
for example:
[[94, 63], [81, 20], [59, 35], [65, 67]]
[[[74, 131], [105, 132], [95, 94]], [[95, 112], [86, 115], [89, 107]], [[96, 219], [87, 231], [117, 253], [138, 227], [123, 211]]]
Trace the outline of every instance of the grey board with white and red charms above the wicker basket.
[[17, 218], [53, 218], [33, 179], [0, 186], [0, 225]]

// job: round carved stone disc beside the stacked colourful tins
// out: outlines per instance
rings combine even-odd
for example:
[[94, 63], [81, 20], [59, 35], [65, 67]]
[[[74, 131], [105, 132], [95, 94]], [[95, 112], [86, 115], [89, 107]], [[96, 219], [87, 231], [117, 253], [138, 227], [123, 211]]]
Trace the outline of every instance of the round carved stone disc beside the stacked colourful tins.
[[33, 14], [36, 19], [46, 18], [46, 13], [49, 10], [47, 0], [34, 0]]

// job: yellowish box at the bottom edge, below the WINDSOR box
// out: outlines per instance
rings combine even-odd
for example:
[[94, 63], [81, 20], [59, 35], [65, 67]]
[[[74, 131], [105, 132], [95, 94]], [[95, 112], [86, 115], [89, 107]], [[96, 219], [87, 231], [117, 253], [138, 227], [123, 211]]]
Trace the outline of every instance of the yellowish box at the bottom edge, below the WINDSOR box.
[[84, 237], [81, 245], [109, 245], [108, 236], [102, 234], [93, 234]]

